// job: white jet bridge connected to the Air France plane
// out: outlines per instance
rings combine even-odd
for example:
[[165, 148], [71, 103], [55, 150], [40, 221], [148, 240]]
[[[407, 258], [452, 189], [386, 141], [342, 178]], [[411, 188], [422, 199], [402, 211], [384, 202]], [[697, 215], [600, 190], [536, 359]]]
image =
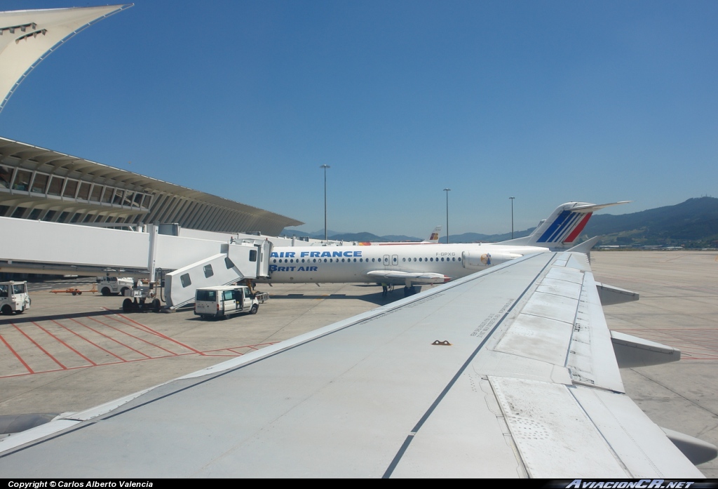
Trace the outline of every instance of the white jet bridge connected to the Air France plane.
[[198, 287], [269, 276], [268, 238], [195, 238], [162, 234], [157, 225], [118, 230], [14, 218], [0, 218], [0, 228], [0, 271], [149, 276], [154, 282], [162, 269], [172, 309], [192, 302]]

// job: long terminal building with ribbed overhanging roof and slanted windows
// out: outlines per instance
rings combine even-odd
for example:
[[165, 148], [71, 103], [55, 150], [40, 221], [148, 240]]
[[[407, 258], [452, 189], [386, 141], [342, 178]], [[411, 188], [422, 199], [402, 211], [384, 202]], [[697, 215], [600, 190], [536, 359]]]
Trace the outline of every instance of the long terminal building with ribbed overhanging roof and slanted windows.
[[88, 159], [0, 138], [0, 216], [60, 223], [179, 223], [278, 236], [302, 222]]

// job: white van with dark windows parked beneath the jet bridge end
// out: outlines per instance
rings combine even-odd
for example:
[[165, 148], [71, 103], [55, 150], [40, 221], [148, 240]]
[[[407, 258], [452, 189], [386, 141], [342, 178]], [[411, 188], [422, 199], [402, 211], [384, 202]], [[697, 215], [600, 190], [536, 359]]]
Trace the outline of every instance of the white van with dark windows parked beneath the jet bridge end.
[[195, 294], [195, 315], [203, 320], [225, 319], [238, 312], [256, 314], [259, 300], [246, 285], [202, 287]]

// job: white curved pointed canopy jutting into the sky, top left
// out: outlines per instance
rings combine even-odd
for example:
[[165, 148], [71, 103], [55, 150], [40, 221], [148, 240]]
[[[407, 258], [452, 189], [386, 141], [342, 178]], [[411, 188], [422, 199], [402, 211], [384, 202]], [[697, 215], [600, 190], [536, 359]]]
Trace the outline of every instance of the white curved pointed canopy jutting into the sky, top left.
[[47, 55], [85, 27], [132, 5], [0, 12], [0, 111]]

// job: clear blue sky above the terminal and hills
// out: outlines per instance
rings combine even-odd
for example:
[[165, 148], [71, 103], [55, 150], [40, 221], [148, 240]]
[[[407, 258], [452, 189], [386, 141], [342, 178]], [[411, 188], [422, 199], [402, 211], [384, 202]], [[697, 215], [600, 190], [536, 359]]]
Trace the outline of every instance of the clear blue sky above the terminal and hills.
[[[4, 0], [1, 8], [99, 5]], [[716, 1], [139, 0], [43, 61], [0, 136], [324, 226], [536, 225], [718, 197]]]

